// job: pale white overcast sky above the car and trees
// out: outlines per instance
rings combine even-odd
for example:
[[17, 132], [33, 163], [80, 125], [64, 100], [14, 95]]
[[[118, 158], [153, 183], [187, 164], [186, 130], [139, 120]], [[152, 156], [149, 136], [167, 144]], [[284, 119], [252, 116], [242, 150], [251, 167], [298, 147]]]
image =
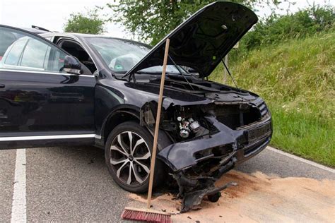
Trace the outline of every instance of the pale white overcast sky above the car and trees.
[[[335, 0], [291, 0], [295, 1], [290, 6], [290, 11], [298, 11], [305, 8], [313, 1], [315, 4], [330, 4], [335, 6]], [[30, 28], [37, 25], [42, 28], [54, 31], [62, 31], [66, 19], [71, 13], [86, 12], [87, 8], [94, 6], [105, 6], [114, 0], [0, 0], [0, 24], [16, 26], [18, 28]], [[288, 8], [288, 4], [282, 4], [280, 8]], [[112, 16], [112, 11], [110, 11]], [[258, 16], [269, 15], [269, 8], [259, 8]], [[279, 13], [286, 13], [286, 10]], [[111, 37], [133, 38], [122, 28], [122, 25], [108, 23], [105, 25], [105, 35]]]

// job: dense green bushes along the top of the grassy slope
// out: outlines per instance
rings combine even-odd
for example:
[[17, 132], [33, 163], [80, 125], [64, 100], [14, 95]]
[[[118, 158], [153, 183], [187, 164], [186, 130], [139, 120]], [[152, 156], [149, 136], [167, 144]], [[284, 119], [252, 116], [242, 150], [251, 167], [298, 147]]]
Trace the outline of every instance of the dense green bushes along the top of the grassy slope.
[[264, 44], [277, 44], [292, 38], [303, 38], [315, 32], [329, 30], [335, 24], [335, 11], [331, 6], [310, 6], [294, 14], [272, 15], [259, 21], [241, 41], [246, 50]]

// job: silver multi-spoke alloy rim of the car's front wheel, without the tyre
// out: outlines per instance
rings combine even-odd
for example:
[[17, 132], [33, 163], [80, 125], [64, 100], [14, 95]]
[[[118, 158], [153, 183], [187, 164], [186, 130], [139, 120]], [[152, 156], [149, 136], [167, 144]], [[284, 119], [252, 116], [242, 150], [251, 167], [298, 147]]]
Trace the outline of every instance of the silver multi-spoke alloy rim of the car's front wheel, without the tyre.
[[119, 133], [110, 146], [110, 164], [117, 178], [129, 186], [139, 186], [150, 172], [151, 152], [137, 133]]

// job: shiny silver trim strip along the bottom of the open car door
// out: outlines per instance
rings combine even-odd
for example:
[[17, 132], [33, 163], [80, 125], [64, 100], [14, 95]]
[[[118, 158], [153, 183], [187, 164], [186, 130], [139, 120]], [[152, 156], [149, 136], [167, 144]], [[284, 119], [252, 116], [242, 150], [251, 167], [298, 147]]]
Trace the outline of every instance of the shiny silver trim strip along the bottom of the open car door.
[[13, 140], [47, 140], [47, 139], [65, 139], [65, 138], [98, 138], [100, 135], [95, 134], [81, 134], [81, 135], [35, 135], [35, 136], [13, 136], [13, 137], [0, 137], [1, 141]]

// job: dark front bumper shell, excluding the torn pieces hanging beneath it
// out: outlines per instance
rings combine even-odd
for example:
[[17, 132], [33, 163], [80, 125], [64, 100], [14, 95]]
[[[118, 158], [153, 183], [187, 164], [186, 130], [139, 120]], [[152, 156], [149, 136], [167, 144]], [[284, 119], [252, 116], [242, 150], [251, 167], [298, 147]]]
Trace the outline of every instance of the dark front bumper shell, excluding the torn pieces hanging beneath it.
[[234, 164], [240, 164], [264, 150], [271, 140], [270, 115], [237, 130], [228, 128], [214, 117], [206, 119], [217, 129], [215, 133], [168, 145], [158, 153], [158, 158], [172, 171], [189, 169], [208, 159], [220, 159], [218, 165], [223, 166], [234, 157]]

